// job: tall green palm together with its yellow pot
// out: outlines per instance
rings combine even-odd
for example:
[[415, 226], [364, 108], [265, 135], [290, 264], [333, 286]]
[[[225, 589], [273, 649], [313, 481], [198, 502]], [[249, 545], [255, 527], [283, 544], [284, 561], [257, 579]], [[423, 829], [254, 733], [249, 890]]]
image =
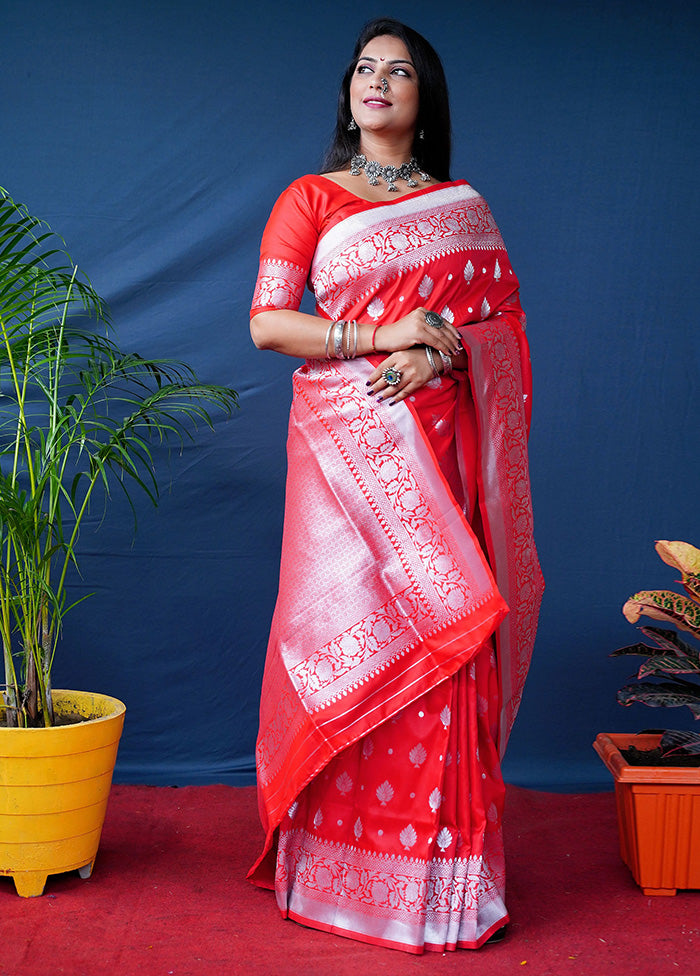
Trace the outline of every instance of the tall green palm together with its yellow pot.
[[157, 504], [153, 439], [236, 402], [122, 352], [64, 242], [0, 190], [0, 875], [22, 895], [92, 871], [124, 721], [116, 699], [51, 683], [86, 514], [117, 487]]

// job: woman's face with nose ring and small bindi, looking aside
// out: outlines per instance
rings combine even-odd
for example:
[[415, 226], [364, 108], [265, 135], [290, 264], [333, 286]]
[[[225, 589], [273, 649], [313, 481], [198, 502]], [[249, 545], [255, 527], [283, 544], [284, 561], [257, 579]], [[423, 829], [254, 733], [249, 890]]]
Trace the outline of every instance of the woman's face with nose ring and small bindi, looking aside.
[[374, 37], [350, 80], [350, 108], [363, 132], [413, 140], [420, 96], [418, 74], [398, 37]]

